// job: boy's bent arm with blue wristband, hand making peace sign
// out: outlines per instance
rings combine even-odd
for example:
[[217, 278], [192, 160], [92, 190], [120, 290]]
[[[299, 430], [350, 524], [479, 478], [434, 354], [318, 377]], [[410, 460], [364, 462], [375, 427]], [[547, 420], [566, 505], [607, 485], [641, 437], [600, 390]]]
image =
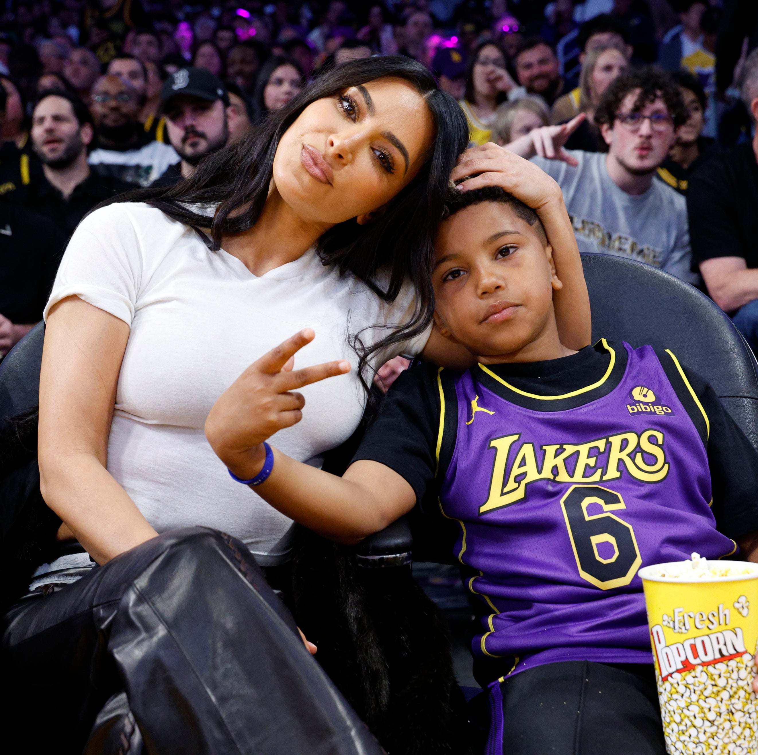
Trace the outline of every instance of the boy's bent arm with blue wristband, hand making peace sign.
[[[208, 442], [240, 480], [252, 480], [262, 470], [263, 442], [302, 418], [305, 400], [292, 389], [349, 370], [349, 363], [334, 362], [292, 371], [294, 354], [312, 338], [312, 331], [302, 331], [265, 354], [230, 385], [208, 414]], [[414, 379], [401, 377], [398, 382], [412, 384]], [[387, 403], [394, 406], [397, 402]], [[413, 484], [399, 471], [370, 458], [354, 462], [343, 477], [336, 477], [274, 448], [271, 474], [255, 486], [255, 492], [291, 519], [342, 543], [357, 543], [384, 529], [413, 508], [417, 489], [422, 490], [424, 481], [434, 477], [423, 431], [414, 429], [412, 418], [405, 418], [403, 426], [402, 415], [386, 415], [383, 412], [383, 421], [377, 420], [376, 425], [384, 426], [396, 451], [396, 457], [387, 457], [388, 463], [396, 465]], [[415, 463], [409, 462], [411, 457]]]

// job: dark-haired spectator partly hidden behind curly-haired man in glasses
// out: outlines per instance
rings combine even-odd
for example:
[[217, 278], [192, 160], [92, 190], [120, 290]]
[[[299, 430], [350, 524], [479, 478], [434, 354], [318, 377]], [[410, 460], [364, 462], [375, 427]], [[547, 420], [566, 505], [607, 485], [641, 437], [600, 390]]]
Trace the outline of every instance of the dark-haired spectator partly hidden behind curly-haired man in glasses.
[[692, 173], [716, 154], [716, 140], [702, 135], [706, 93], [700, 81], [688, 71], [677, 71], [671, 75], [681, 90], [688, 118], [678, 127], [674, 146], [658, 168], [658, 178], [680, 194], [686, 194]]

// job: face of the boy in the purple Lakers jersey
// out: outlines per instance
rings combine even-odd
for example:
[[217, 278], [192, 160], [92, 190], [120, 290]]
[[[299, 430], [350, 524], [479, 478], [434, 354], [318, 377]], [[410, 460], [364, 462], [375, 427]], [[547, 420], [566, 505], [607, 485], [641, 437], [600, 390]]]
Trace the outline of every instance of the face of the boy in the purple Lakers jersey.
[[482, 202], [444, 221], [432, 280], [440, 332], [483, 363], [533, 360], [556, 334], [553, 250], [509, 205]]

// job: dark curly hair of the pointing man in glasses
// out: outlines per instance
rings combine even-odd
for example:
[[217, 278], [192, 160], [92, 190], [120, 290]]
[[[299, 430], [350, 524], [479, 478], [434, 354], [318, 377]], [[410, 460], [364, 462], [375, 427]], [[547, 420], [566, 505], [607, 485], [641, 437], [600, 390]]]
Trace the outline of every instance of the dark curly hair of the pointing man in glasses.
[[627, 68], [622, 74], [615, 77], [605, 94], [600, 100], [595, 112], [595, 123], [613, 126], [616, 115], [625, 97], [634, 90], [640, 90], [637, 102], [634, 102], [634, 110], [642, 110], [645, 105], [655, 102], [661, 97], [666, 103], [666, 109], [674, 120], [675, 126], [681, 126], [688, 118], [688, 112], [684, 109], [684, 100], [681, 99], [679, 85], [669, 74], [656, 68], [654, 65], [646, 65], [644, 68]]

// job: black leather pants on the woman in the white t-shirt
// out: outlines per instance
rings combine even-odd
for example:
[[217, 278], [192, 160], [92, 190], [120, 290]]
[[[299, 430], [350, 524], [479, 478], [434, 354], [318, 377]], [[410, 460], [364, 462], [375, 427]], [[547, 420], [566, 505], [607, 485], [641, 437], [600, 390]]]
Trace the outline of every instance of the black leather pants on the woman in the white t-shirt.
[[202, 527], [22, 599], [2, 653], [5, 737], [17, 731], [25, 752], [107, 750], [102, 726], [119, 719], [119, 700], [156, 755], [383, 751], [245, 546]]

